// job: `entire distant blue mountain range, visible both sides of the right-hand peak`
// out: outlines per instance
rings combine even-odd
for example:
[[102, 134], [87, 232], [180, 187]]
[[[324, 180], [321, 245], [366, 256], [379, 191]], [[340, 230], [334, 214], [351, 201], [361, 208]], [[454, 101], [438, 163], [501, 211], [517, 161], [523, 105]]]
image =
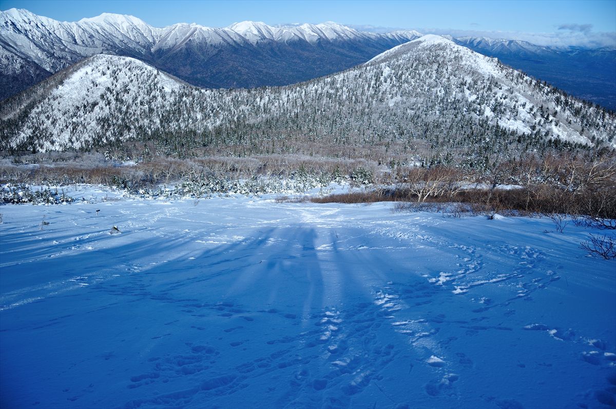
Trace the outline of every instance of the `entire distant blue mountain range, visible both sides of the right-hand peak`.
[[[336, 23], [164, 28], [128, 15], [58, 22], [23, 9], [0, 12], [0, 98], [96, 54], [142, 60], [208, 88], [286, 85], [359, 65], [419, 38], [416, 31], [368, 33]], [[616, 109], [616, 51], [563, 50], [524, 41], [450, 38], [497, 57], [580, 98]]]

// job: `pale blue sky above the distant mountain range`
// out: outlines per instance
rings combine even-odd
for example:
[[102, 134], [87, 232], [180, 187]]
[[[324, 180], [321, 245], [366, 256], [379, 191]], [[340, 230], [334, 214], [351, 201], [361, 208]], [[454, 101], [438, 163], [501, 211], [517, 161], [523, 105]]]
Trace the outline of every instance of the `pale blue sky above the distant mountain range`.
[[[482, 35], [521, 39], [533, 33], [546, 38], [583, 41], [616, 32], [616, 0], [568, 1], [169, 1], [169, 0], [2, 0], [1, 9], [27, 9], [60, 21], [76, 21], [103, 12], [131, 14], [153, 26], [198, 23], [224, 27], [243, 20], [408, 28], [424, 33]], [[380, 28], [380, 29], [379, 29]], [[603, 34], [599, 34], [603, 33]], [[490, 35], [498, 36], [498, 35]], [[546, 40], [547, 41], [547, 40]], [[614, 39], [616, 42], [616, 37]], [[616, 45], [616, 44], [615, 44]]]

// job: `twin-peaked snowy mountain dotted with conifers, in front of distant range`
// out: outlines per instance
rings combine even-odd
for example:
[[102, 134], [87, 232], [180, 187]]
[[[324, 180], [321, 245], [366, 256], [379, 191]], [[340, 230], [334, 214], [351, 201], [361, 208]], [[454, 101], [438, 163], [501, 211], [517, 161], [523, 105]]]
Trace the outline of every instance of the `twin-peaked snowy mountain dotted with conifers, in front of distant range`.
[[256, 90], [197, 89], [134, 58], [96, 55], [5, 101], [0, 117], [2, 147], [34, 151], [149, 140], [176, 152], [402, 153], [428, 143], [483, 160], [563, 142], [616, 146], [613, 113], [434, 35], [339, 74]]

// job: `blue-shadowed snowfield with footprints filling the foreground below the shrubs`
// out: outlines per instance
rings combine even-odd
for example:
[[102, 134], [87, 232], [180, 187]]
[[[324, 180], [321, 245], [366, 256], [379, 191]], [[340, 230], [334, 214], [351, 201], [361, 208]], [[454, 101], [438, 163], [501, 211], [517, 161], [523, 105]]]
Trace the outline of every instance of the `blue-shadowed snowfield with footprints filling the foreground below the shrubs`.
[[2, 407], [614, 402], [614, 263], [584, 228], [81, 194], [0, 208]]

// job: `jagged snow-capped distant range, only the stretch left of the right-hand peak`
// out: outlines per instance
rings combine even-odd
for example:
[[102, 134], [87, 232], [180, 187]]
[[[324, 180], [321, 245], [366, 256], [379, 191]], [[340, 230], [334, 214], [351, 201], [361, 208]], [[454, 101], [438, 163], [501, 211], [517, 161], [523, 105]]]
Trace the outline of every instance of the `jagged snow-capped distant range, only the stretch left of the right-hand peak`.
[[331, 22], [156, 28], [117, 14], [57, 22], [10, 9], [0, 12], [0, 98], [95, 54], [138, 58], [202, 87], [258, 87], [334, 73], [419, 35], [360, 33]]

